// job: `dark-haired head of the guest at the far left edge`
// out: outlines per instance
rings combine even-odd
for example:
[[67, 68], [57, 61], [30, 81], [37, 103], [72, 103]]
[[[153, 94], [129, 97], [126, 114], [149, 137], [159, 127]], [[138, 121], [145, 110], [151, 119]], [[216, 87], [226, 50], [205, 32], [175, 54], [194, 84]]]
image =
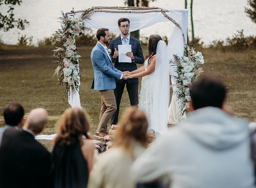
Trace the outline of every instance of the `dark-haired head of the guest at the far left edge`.
[[18, 103], [12, 103], [3, 112], [5, 123], [11, 126], [21, 127], [23, 123], [24, 109]]

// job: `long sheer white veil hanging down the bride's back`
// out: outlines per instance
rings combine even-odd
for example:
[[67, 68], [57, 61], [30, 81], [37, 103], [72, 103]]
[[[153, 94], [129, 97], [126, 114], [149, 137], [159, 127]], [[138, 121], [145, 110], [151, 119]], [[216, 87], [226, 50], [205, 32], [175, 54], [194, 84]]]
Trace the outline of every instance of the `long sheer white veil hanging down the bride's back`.
[[[169, 62], [167, 59], [167, 46], [164, 41], [157, 44], [155, 71], [154, 71], [154, 94], [152, 123], [158, 125], [157, 131], [167, 130], [168, 107], [170, 100], [170, 77]], [[158, 127], [157, 126], [157, 127]]]

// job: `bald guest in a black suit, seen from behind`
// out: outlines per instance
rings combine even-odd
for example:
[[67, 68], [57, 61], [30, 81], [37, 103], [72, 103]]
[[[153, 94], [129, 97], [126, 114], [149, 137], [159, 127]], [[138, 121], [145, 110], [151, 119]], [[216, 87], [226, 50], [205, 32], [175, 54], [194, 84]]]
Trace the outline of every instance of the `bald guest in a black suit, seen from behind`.
[[35, 140], [44, 129], [47, 112], [34, 109], [23, 130], [7, 129], [0, 147], [1, 188], [45, 188], [52, 169], [50, 153]]

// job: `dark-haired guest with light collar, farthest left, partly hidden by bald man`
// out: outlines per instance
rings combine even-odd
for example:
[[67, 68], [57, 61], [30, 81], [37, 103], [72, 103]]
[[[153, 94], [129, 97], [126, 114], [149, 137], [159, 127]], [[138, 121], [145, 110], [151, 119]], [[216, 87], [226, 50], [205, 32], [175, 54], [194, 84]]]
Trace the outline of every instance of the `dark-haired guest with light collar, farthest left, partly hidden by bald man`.
[[24, 109], [18, 103], [12, 103], [5, 108], [3, 117], [5, 119], [5, 127], [0, 128], [0, 146], [3, 133], [6, 129], [20, 129], [23, 124]]

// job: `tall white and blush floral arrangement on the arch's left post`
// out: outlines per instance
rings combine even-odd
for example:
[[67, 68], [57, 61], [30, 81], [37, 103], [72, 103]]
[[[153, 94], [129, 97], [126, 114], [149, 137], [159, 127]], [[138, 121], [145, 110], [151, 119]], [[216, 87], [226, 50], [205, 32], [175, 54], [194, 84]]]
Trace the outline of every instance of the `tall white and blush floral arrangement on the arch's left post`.
[[[79, 58], [78, 50], [76, 49], [75, 35], [82, 35], [86, 30], [90, 28], [85, 27], [84, 19], [90, 19], [90, 15], [94, 9], [87, 9], [79, 18], [75, 18], [74, 9], [71, 11], [73, 14], [71, 18], [65, 17], [62, 12], [61, 28], [58, 29], [55, 34], [53, 34], [53, 45], [56, 46], [54, 51], [56, 61], [54, 63], [58, 64], [55, 69], [55, 73], [58, 76], [58, 85], [64, 85], [64, 98], [69, 99], [70, 88], [74, 92], [78, 92], [79, 89]], [[54, 77], [53, 75], [53, 77]], [[62, 99], [62, 100], [63, 100]]]

